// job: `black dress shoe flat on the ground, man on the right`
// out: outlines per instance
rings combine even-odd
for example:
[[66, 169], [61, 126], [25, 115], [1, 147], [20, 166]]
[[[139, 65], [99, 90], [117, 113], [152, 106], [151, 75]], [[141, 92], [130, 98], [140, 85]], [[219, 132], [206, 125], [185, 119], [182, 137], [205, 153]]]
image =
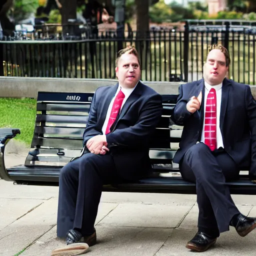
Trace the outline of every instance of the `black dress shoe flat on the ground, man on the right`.
[[202, 252], [207, 250], [211, 245], [213, 245], [216, 240], [216, 237], [211, 237], [204, 232], [197, 232], [195, 236], [187, 242], [186, 248]]

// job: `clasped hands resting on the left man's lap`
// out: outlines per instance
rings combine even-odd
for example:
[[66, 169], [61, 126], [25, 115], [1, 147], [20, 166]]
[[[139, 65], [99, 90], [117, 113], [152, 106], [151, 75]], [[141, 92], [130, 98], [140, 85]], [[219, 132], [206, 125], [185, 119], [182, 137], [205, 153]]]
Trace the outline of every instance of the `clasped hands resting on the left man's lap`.
[[[106, 136], [105, 135], [96, 135], [90, 138], [86, 143], [87, 148], [93, 154], [105, 154], [109, 149], [106, 147]], [[104, 147], [103, 147], [104, 146]], [[102, 150], [102, 151], [101, 151]]]

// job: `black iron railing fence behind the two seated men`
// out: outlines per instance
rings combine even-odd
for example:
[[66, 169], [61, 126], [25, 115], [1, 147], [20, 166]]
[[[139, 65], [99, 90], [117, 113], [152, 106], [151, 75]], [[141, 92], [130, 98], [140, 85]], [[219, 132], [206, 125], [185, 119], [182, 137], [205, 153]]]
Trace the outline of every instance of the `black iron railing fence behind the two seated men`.
[[129, 32], [123, 38], [100, 32], [79, 40], [3, 40], [0, 62], [11, 76], [114, 78], [118, 47], [132, 44], [143, 80], [191, 81], [202, 77], [207, 47], [221, 43], [231, 55], [229, 77], [255, 84], [255, 36], [256, 22], [188, 20], [182, 30]]

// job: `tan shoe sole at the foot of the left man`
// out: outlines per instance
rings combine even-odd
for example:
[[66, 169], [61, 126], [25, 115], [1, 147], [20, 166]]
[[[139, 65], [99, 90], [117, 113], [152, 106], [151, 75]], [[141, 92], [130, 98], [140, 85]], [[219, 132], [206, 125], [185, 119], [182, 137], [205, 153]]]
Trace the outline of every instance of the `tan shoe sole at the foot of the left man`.
[[52, 250], [51, 256], [74, 256], [80, 255], [86, 252], [89, 248], [85, 242], [75, 242], [66, 246], [56, 248]]

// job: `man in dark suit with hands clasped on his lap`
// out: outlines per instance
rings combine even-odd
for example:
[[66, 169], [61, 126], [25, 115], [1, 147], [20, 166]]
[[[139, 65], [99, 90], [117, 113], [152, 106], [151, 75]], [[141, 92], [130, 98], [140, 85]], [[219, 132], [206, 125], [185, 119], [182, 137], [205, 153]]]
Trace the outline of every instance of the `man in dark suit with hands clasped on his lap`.
[[76, 243], [82, 238], [89, 246], [96, 243], [103, 184], [136, 180], [151, 169], [148, 141], [161, 116], [161, 95], [139, 81], [135, 48], [117, 53], [115, 71], [118, 83], [99, 87], [93, 96], [83, 133], [85, 153], [60, 171], [57, 236], [66, 236], [67, 246], [52, 255], [83, 253], [86, 245]]

